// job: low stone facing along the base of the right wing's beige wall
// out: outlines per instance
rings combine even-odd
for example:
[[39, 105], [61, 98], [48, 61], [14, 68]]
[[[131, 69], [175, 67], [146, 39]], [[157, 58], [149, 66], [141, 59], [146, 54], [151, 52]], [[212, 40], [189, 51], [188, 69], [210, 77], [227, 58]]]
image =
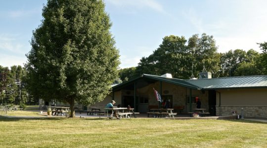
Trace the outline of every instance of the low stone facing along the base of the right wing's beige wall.
[[231, 115], [232, 111], [237, 111], [241, 115], [243, 108], [244, 117], [263, 117], [267, 118], [267, 106], [216, 106], [216, 115]]

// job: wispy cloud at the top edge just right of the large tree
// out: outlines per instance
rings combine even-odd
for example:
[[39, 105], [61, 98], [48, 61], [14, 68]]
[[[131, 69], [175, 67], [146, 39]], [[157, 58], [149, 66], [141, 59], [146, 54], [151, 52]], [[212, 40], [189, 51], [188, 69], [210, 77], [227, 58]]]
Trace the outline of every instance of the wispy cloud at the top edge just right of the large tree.
[[150, 8], [158, 12], [164, 12], [161, 4], [155, 0], [105, 0], [117, 7], [136, 7], [139, 9]]

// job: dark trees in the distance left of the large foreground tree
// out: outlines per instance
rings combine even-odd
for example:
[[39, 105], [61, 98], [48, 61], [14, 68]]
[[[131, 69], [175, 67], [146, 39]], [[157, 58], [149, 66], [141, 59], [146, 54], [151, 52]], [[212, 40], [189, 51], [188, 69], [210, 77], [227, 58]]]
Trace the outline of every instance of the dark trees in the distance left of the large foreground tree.
[[0, 66], [0, 104], [36, 105], [34, 98], [26, 88], [25, 70], [21, 66]]

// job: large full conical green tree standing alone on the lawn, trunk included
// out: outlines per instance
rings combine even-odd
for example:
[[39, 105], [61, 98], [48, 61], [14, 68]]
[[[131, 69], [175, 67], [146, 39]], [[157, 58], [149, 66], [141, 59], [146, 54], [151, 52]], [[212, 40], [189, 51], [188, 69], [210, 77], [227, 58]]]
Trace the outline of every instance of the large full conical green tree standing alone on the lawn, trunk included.
[[90, 105], [110, 92], [119, 53], [102, 0], [48, 0], [25, 65], [39, 97]]

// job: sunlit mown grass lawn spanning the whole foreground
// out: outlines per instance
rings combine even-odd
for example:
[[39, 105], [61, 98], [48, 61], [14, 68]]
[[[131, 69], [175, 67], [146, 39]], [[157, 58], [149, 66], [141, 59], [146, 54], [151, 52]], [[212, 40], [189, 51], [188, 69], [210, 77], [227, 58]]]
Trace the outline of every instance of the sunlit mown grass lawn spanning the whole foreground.
[[0, 117], [0, 147], [267, 147], [267, 124], [247, 120]]

